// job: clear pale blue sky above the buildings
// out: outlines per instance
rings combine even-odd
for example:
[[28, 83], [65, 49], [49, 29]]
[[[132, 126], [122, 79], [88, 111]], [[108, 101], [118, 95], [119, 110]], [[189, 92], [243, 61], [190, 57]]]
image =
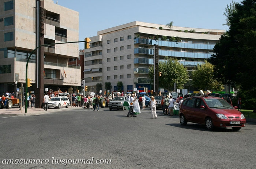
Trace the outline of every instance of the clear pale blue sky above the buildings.
[[[54, 0], [79, 12], [79, 40], [132, 21], [227, 30], [227, 4], [232, 0]], [[233, 0], [240, 2], [241, 0]], [[79, 44], [79, 50], [84, 44]]]

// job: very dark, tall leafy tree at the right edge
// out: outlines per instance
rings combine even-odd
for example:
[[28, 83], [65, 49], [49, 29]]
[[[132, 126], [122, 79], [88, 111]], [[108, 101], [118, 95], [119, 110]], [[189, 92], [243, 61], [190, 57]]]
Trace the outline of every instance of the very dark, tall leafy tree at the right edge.
[[221, 36], [208, 61], [223, 82], [251, 90], [256, 83], [256, 0], [241, 1], [234, 8], [226, 15], [229, 30]]

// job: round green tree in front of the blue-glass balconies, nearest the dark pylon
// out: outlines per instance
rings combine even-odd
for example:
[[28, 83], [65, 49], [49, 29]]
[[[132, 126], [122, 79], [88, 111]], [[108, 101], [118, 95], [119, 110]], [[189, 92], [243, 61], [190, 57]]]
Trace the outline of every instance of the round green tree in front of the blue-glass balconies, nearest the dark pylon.
[[[151, 66], [149, 70], [151, 79], [154, 79], [153, 72], [154, 67]], [[189, 80], [187, 69], [177, 59], [172, 60], [171, 58], [165, 57], [163, 62], [159, 62], [159, 72], [162, 72], [158, 80], [159, 87], [163, 87], [169, 91], [173, 90], [174, 82], [177, 83], [177, 89], [183, 89], [184, 84]]]

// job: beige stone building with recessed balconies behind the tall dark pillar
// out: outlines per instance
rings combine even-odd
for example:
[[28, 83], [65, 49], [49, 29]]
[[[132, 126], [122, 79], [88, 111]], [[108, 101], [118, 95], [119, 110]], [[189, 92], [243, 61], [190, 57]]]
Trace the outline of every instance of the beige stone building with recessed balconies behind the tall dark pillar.
[[[0, 0], [0, 93], [13, 92], [25, 86], [26, 62], [35, 49], [35, 0]], [[42, 0], [45, 9], [44, 44], [77, 42], [79, 12]], [[69, 66], [69, 59], [78, 58], [78, 43], [44, 47], [44, 87], [65, 91], [80, 86], [80, 67]], [[28, 64], [29, 92], [35, 90], [35, 54]]]

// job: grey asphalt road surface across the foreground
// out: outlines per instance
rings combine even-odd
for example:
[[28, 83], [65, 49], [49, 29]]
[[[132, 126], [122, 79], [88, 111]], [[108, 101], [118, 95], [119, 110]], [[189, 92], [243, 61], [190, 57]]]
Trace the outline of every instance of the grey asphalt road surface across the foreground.
[[[148, 108], [137, 118], [108, 108], [0, 117], [0, 168], [256, 168], [255, 123], [237, 132], [207, 131], [193, 123], [181, 126], [177, 116], [157, 112], [157, 119], [150, 119]], [[34, 164], [23, 164], [26, 160]], [[73, 161], [79, 164], [66, 164]], [[111, 164], [96, 164], [104, 162]]]

